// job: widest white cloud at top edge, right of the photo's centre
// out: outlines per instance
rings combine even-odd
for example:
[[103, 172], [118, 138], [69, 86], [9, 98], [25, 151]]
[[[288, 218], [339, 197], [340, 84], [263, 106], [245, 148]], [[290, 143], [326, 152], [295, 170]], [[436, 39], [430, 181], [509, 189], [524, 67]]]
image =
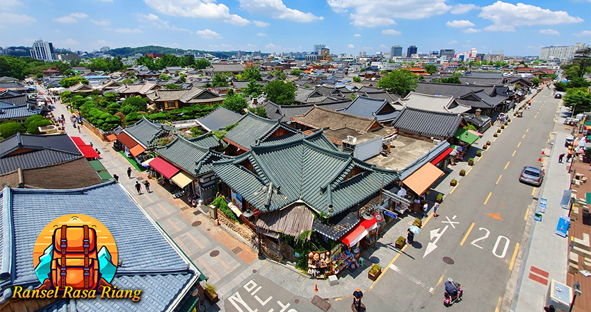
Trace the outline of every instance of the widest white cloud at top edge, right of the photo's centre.
[[446, 0], [327, 0], [334, 12], [350, 12], [351, 24], [357, 27], [389, 26], [394, 18], [425, 19], [433, 15], [442, 15], [452, 7]]

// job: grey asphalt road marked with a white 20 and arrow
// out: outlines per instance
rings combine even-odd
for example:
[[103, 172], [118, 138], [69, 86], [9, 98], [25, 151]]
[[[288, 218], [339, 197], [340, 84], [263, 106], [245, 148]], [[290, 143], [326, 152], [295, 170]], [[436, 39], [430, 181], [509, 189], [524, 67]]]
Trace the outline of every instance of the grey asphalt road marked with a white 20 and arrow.
[[[531, 110], [510, 123], [458, 188], [446, 196], [439, 218], [428, 220], [416, 243], [407, 246], [365, 294], [368, 311], [393, 311], [386, 307], [446, 311], [442, 300], [448, 277], [463, 284], [466, 291], [464, 300], [454, 304], [455, 311], [498, 309], [515, 267], [517, 243], [524, 237], [528, 206], [537, 191], [521, 184], [519, 173], [523, 166], [540, 166], [537, 159], [549, 147], [557, 106], [558, 100], [544, 89]], [[437, 248], [429, 246], [433, 242]], [[444, 257], [450, 257], [453, 264], [445, 263]], [[345, 311], [345, 301], [333, 302], [334, 307]]]

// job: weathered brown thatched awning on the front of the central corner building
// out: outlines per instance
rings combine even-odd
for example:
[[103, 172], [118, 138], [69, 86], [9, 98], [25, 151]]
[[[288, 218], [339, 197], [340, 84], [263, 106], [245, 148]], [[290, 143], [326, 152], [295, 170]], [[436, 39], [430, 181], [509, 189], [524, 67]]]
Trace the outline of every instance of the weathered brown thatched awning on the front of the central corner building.
[[[293, 237], [311, 231], [314, 215], [305, 205], [295, 205], [281, 210], [260, 214], [257, 226], [264, 231], [283, 233]], [[265, 234], [262, 231], [261, 233]]]

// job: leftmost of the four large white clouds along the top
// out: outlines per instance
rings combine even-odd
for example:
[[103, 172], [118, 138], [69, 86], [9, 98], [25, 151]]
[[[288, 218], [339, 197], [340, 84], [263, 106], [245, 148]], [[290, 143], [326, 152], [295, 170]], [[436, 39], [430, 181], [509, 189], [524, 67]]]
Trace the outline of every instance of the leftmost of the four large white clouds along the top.
[[165, 15], [175, 17], [197, 17], [212, 20], [222, 20], [236, 26], [250, 24], [236, 14], [230, 14], [230, 9], [223, 3], [216, 4], [213, 0], [144, 0], [150, 8]]

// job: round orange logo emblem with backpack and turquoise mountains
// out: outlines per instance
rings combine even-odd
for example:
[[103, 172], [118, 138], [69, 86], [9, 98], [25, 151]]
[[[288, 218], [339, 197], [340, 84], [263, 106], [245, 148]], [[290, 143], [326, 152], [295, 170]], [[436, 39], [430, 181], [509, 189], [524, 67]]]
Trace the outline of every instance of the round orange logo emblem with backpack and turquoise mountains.
[[61, 216], [44, 229], [33, 249], [39, 291], [56, 293], [114, 289], [118, 252], [111, 232], [95, 218]]

